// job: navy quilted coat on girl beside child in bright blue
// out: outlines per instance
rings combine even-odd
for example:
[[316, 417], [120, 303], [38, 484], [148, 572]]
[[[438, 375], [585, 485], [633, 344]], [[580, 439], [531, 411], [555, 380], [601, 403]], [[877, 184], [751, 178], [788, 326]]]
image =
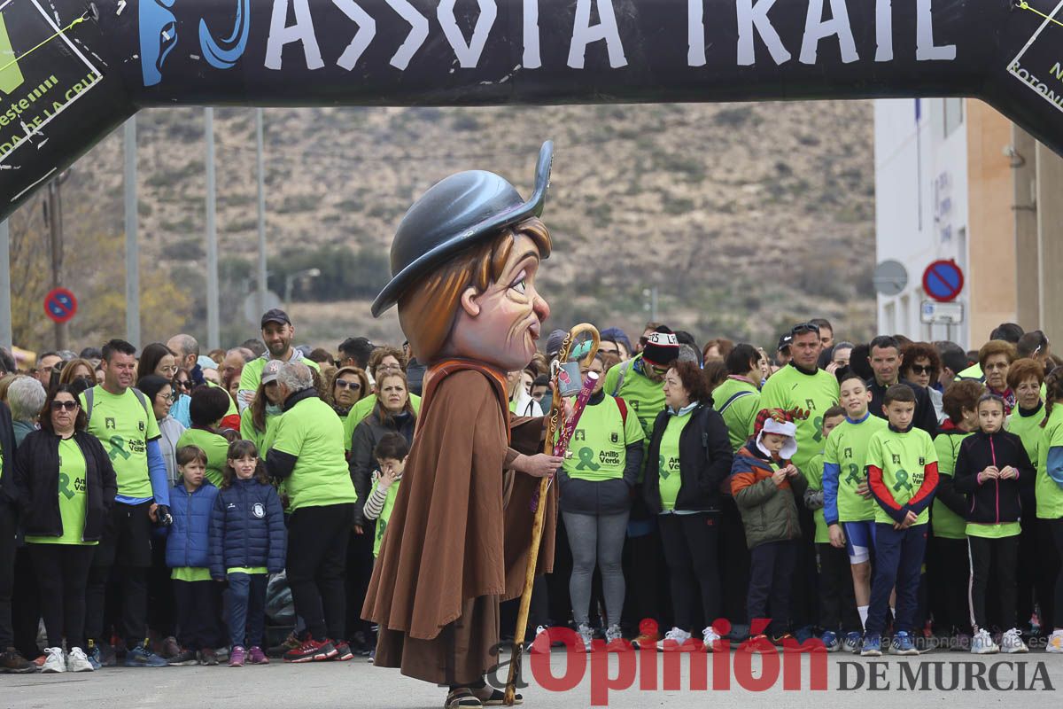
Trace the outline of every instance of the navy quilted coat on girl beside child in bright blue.
[[213, 578], [224, 578], [233, 567], [266, 567], [270, 573], [284, 570], [285, 529], [281, 497], [273, 486], [254, 478], [233, 480], [219, 490], [210, 513]]

